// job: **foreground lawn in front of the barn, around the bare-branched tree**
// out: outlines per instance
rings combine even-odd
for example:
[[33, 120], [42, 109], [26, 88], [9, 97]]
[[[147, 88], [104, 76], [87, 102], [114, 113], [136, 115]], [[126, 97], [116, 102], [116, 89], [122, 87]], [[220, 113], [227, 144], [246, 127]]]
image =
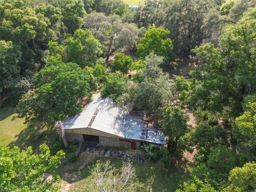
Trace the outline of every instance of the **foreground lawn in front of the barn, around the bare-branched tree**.
[[[122, 159], [107, 157], [100, 157], [99, 159], [100, 161], [110, 160], [116, 169], [121, 168], [123, 161]], [[81, 166], [82, 163], [78, 159], [77, 162], [73, 163], [73, 165], [71, 165], [71, 163], [64, 165], [69, 167], [68, 170], [67, 168], [64, 169], [64, 167], [62, 167], [63, 165], [61, 165], [59, 167], [58, 173], [61, 175], [70, 174], [68, 179], [67, 177], [61, 177], [62, 180], [72, 184], [70, 191], [87, 191], [90, 189], [90, 186], [94, 185], [94, 183], [91, 182], [89, 171], [89, 167], [94, 163], [95, 159], [88, 166], [85, 166], [84, 169], [79, 170], [79, 166]], [[145, 185], [145, 190], [143, 190], [145, 192], [175, 191], [179, 188], [179, 185], [187, 178], [186, 174], [175, 166], [166, 168], [161, 163], [155, 162], [132, 162], [132, 164], [136, 169], [138, 180]]]

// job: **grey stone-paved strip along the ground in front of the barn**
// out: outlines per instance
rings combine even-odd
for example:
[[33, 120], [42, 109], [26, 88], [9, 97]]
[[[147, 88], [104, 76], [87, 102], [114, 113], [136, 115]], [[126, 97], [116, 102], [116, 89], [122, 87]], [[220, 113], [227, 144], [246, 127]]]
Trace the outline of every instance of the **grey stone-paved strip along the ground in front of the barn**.
[[113, 150], [107, 147], [101, 147], [97, 143], [85, 143], [84, 152], [87, 154], [97, 154], [101, 157], [116, 157], [141, 163], [145, 162], [144, 158], [133, 155], [128, 150]]

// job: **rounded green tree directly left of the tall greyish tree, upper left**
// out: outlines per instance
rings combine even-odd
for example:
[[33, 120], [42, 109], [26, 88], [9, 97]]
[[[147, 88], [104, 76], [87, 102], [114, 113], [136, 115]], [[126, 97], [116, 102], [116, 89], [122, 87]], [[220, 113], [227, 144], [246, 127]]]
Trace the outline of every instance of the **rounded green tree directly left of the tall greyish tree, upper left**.
[[77, 29], [73, 37], [66, 39], [67, 62], [75, 62], [82, 68], [94, 66], [101, 54], [101, 45], [90, 30]]

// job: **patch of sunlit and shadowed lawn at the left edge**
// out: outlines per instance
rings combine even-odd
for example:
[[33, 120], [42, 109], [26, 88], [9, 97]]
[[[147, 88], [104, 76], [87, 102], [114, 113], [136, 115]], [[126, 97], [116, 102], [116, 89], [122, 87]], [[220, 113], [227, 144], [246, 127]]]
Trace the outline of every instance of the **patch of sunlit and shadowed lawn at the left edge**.
[[15, 107], [2, 107], [0, 110], [0, 142], [5, 146], [18, 146], [21, 149], [32, 146], [34, 150], [42, 143], [51, 146], [58, 138], [53, 130], [46, 127], [35, 128], [24, 124], [25, 118], [19, 118]]

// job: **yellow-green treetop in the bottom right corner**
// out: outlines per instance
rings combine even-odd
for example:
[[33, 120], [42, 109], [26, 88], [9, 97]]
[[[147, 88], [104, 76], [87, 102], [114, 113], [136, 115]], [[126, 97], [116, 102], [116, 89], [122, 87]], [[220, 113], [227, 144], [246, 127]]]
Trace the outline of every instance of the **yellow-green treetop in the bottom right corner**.
[[222, 191], [253, 191], [256, 189], [256, 164], [246, 163], [229, 172], [228, 186]]

